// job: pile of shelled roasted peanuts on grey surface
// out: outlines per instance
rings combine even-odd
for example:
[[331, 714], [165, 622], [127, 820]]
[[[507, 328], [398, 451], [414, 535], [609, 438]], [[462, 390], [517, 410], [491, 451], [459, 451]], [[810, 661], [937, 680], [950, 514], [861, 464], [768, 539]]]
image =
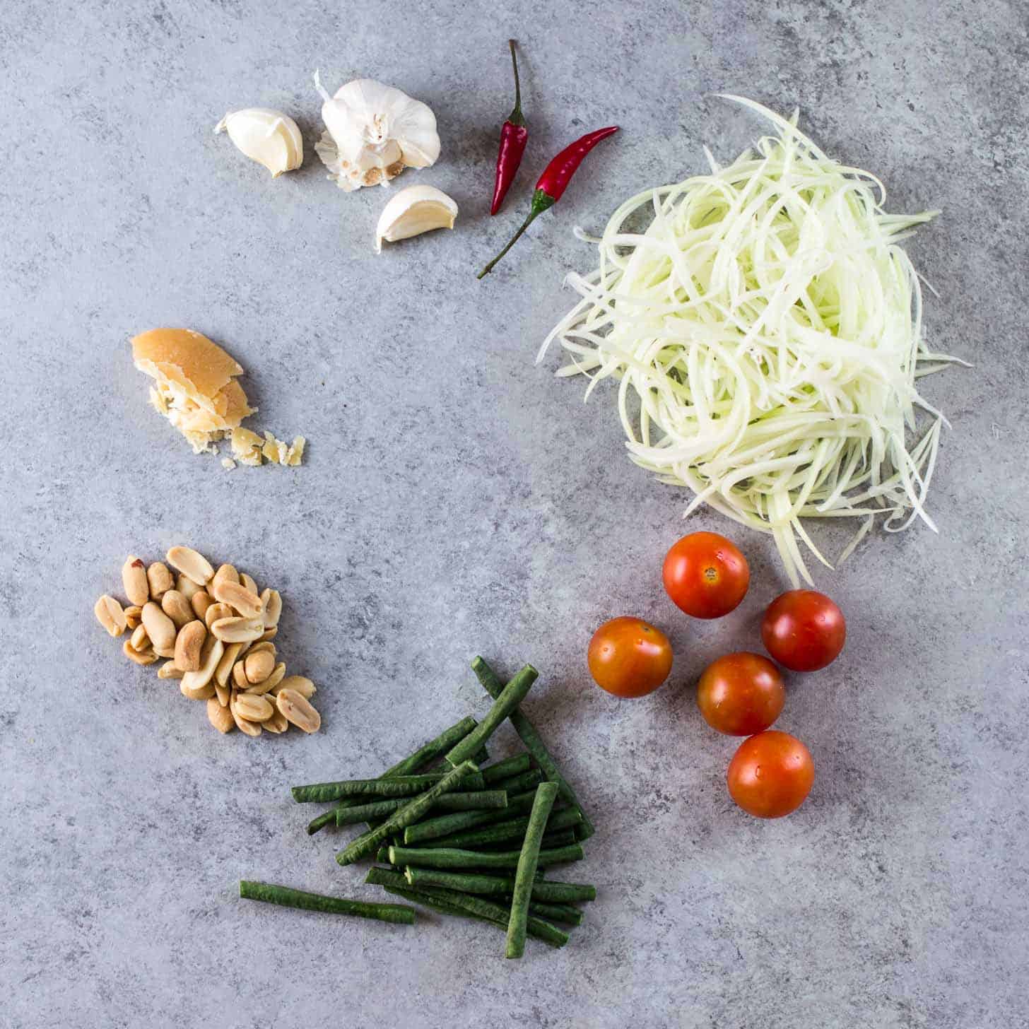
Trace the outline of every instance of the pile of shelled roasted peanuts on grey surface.
[[[130, 555], [121, 568], [129, 606], [104, 594], [94, 612], [111, 636], [127, 629], [126, 657], [137, 665], [166, 659], [159, 679], [177, 679], [184, 697], [207, 701], [207, 717], [219, 733], [236, 725], [247, 736], [284, 733], [290, 723], [316, 733], [321, 717], [311, 705], [315, 685], [286, 675], [272, 639], [282, 597], [257, 593], [254, 580], [232, 565], [217, 571], [197, 551], [173, 546], [166, 565]], [[173, 578], [168, 565], [178, 572]]]

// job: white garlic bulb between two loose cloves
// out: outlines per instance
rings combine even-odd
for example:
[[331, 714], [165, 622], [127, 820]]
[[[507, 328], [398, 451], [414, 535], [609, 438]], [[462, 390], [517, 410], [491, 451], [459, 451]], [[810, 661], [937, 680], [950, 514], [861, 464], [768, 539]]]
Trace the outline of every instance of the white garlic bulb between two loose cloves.
[[428, 168], [439, 156], [436, 116], [420, 100], [370, 78], [341, 86], [324, 98], [326, 132], [315, 150], [341, 189], [386, 184], [406, 168]]

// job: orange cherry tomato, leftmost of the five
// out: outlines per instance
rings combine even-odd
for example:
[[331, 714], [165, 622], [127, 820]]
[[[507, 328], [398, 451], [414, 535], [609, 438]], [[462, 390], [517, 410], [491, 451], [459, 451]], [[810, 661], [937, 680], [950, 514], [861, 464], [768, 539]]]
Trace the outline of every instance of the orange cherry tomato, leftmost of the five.
[[590, 640], [590, 674], [615, 697], [653, 693], [672, 670], [668, 637], [641, 618], [611, 618]]

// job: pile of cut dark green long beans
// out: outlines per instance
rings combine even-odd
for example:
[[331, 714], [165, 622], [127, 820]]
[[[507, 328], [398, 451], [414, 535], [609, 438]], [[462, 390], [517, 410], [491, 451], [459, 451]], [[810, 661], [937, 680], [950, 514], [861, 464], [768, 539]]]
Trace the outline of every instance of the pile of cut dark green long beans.
[[[482, 659], [472, 670], [493, 706], [443, 731], [378, 779], [294, 786], [298, 803], [331, 803], [308, 832], [364, 822], [365, 831], [335, 856], [351, 864], [371, 856], [366, 883], [432, 911], [476, 919], [506, 931], [505, 955], [520, 958], [526, 936], [564, 947], [568, 932], [554, 923], [582, 921], [578, 901], [594, 886], [548, 880], [541, 870], [582, 859], [594, 827], [574, 790], [520, 705], [538, 673], [524, 666], [506, 683]], [[487, 742], [509, 720], [525, 750], [489, 764]], [[434, 766], [439, 768], [434, 769]], [[412, 925], [406, 904], [369, 903], [244, 881], [240, 895], [286, 907], [355, 915]]]

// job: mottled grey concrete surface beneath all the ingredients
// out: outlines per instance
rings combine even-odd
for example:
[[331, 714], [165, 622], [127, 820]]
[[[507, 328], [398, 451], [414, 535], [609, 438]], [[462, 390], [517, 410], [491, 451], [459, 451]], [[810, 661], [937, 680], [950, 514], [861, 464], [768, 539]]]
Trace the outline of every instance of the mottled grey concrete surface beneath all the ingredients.
[[[488, 217], [504, 49], [532, 136]], [[1026, 806], [1029, 41], [1024, 3], [554, 5], [11, 0], [0, 21], [0, 1024], [925, 1027], [1029, 1025]], [[319, 102], [368, 75], [436, 111], [453, 234], [372, 252], [389, 193], [339, 191]], [[733, 742], [693, 682], [756, 645], [782, 587], [770, 540], [722, 624], [665, 598], [685, 497], [625, 457], [610, 390], [537, 367], [588, 270], [576, 224], [729, 158], [762, 130], [739, 92], [877, 172], [911, 243], [933, 345], [975, 365], [926, 384], [953, 422], [938, 536], [877, 534], [821, 572], [844, 655], [789, 684], [781, 728], [817, 781], [759, 822], [726, 796]], [[211, 129], [282, 108], [301, 171], [272, 181]], [[488, 281], [535, 170], [622, 134]], [[226, 473], [146, 405], [128, 339], [188, 325], [247, 368], [256, 424], [299, 469]], [[323, 732], [221, 738], [94, 620], [123, 557], [188, 542], [281, 588], [278, 643]], [[676, 646], [647, 700], [592, 686], [584, 649], [635, 613]], [[565, 950], [240, 901], [241, 877], [375, 896], [309, 839], [292, 783], [375, 775], [484, 698], [482, 652], [542, 670], [527, 708], [600, 829], [574, 878], [600, 899]], [[505, 732], [495, 750], [514, 745]]]

